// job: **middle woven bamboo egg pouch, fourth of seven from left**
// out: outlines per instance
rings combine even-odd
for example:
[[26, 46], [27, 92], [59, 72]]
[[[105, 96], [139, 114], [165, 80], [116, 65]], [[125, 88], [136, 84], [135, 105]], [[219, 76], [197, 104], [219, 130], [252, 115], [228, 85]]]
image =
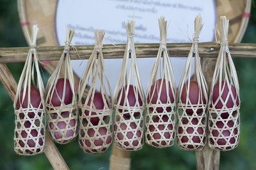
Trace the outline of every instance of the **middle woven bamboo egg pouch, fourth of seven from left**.
[[[122, 148], [124, 150], [140, 150], [143, 146], [144, 92], [141, 86], [133, 40], [134, 24], [135, 23], [133, 20], [131, 22], [128, 21], [128, 23], [125, 24], [125, 29], [127, 31], [127, 44], [125, 47], [124, 59], [114, 93], [115, 145], [116, 147]], [[131, 66], [128, 69], [129, 55], [131, 55]], [[131, 89], [129, 88], [130, 86]], [[123, 92], [125, 94], [124, 97]], [[132, 96], [132, 94], [134, 94], [134, 96]], [[134, 106], [130, 106], [128, 96], [135, 98]], [[141, 104], [139, 99], [141, 99]], [[121, 104], [121, 100], [124, 102], [123, 104]], [[137, 114], [138, 116], [136, 116]]]

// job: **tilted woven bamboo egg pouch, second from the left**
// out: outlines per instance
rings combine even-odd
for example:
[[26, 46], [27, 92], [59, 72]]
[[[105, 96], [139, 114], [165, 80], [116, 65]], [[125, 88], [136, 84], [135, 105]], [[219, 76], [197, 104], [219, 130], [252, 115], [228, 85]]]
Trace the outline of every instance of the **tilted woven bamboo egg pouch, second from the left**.
[[[70, 42], [74, 36], [74, 29], [67, 29], [65, 47], [61, 54], [60, 60], [46, 85], [46, 112], [47, 112], [47, 129], [52, 139], [56, 143], [65, 144], [74, 141], [77, 135], [77, 97], [74, 85], [73, 69], [70, 60]], [[63, 71], [64, 75], [61, 74]], [[58, 81], [59, 80], [59, 81]], [[63, 80], [63, 87], [58, 85]], [[67, 85], [69, 83], [69, 85]], [[60, 89], [61, 88], [61, 89]], [[69, 99], [66, 92], [70, 88], [72, 100], [65, 104]], [[62, 94], [60, 93], [62, 90]], [[56, 99], [56, 97], [58, 97]], [[61, 97], [62, 96], [62, 97]], [[60, 106], [54, 106], [52, 101], [60, 101]]]

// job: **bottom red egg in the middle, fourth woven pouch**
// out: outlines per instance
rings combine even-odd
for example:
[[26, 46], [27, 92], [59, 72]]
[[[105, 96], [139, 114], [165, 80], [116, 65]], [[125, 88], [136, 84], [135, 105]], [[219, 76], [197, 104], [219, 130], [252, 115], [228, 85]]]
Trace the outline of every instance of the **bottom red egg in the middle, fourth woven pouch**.
[[[130, 129], [137, 129], [137, 125], [134, 122], [129, 123]], [[120, 124], [120, 129], [122, 129], [122, 131], [126, 131], [126, 137], [128, 139], [132, 139], [133, 138], [133, 131], [131, 131], [130, 129], [128, 130], [127, 125], [122, 123]], [[114, 131], [117, 131], [117, 125], [114, 125]], [[140, 130], [135, 130], [136, 131], [136, 137], [140, 138], [141, 137], [141, 131]], [[124, 135], [121, 132], [118, 132], [117, 134], [117, 138], [119, 140], [123, 140], [124, 139]], [[125, 146], [129, 146], [129, 144], [132, 142], [132, 146], [138, 146], [139, 145], [139, 141], [138, 140], [131, 140], [131, 141], [125, 141], [124, 145]], [[120, 144], [121, 145], [121, 144]], [[132, 148], [127, 148], [128, 150], [132, 150]]]

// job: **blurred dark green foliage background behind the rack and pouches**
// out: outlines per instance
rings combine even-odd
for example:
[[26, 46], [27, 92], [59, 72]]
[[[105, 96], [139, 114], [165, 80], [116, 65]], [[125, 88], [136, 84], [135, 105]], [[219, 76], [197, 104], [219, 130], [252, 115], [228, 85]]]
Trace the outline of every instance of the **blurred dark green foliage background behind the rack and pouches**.
[[[256, 10], [252, 14], [243, 43], [256, 43]], [[27, 46], [20, 27], [17, 1], [0, 0], [0, 47]], [[256, 55], [256, 54], [255, 54]], [[241, 136], [235, 150], [221, 152], [220, 169], [256, 169], [256, 59], [234, 59], [240, 83]], [[23, 63], [7, 64], [18, 81]], [[43, 71], [43, 70], [42, 70]], [[44, 80], [49, 74], [43, 71]], [[0, 83], [0, 169], [52, 169], [44, 154], [33, 157], [17, 155], [13, 150], [13, 102]], [[58, 145], [70, 169], [108, 169], [111, 148], [106, 153], [83, 153], [78, 141]], [[144, 145], [131, 153], [131, 169], [196, 169], [195, 152], [180, 150], [177, 145], [157, 149]]]

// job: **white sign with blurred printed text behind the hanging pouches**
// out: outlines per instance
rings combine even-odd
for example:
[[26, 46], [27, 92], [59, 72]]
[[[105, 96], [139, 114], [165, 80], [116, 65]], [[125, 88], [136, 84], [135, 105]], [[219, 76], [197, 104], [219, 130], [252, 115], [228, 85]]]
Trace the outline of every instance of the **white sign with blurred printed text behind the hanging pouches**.
[[[134, 16], [133, 16], [134, 12]], [[94, 31], [106, 31], [105, 44], [126, 43], [124, 21], [135, 20], [135, 43], [159, 43], [158, 18], [170, 21], [168, 43], [189, 43], [193, 38], [194, 20], [202, 14], [204, 27], [199, 41], [213, 41], [216, 9], [214, 0], [61, 0], [56, 10], [56, 34], [64, 45], [67, 28], [75, 29], [73, 45], [93, 45]], [[103, 45], [104, 47], [104, 45]], [[172, 52], [170, 53], [172, 56]], [[138, 59], [143, 89], [147, 83], [155, 58]], [[179, 83], [186, 58], [171, 58], [175, 80]], [[86, 62], [72, 60], [74, 73], [81, 76]], [[122, 59], [106, 59], [106, 71], [114, 90]]]

